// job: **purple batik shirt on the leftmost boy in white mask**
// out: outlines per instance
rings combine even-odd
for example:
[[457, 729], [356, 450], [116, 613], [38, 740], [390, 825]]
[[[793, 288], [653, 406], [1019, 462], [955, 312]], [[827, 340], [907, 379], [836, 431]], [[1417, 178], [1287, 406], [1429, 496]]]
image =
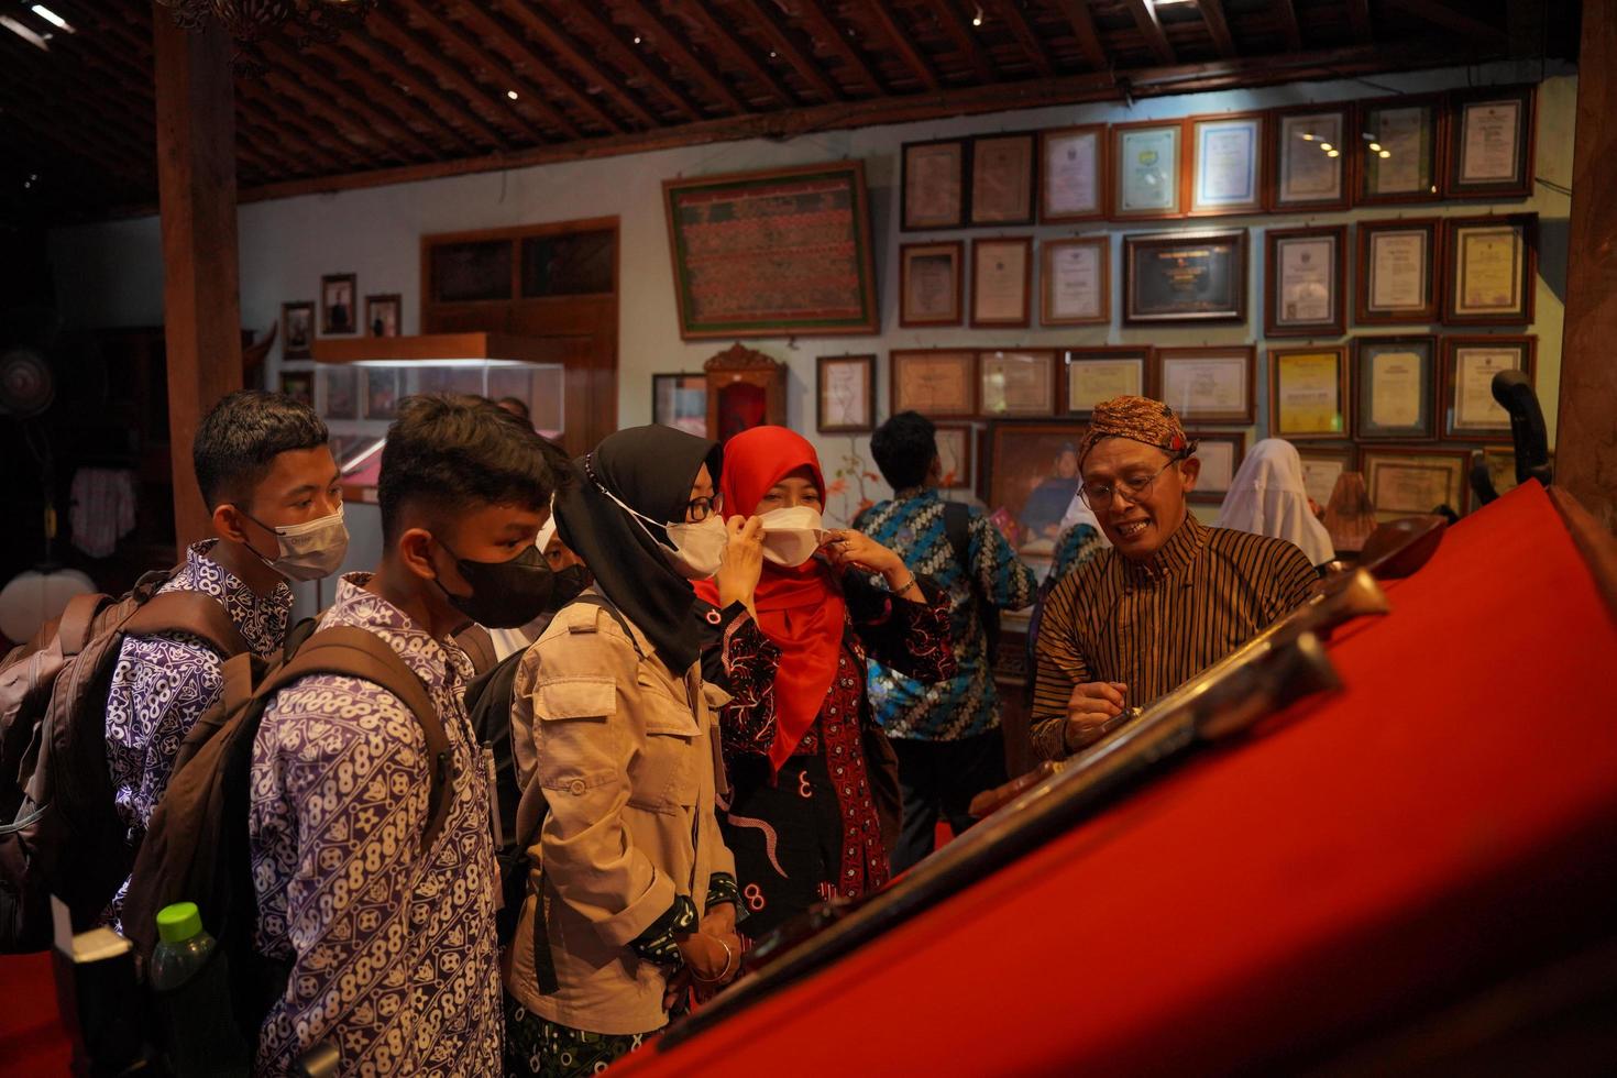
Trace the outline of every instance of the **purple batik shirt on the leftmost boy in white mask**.
[[[218, 540], [191, 546], [184, 567], [158, 593], [212, 595], [223, 603], [247, 646], [268, 658], [286, 637], [293, 592], [278, 582], [268, 595], [255, 593], [207, 556], [215, 543]], [[225, 659], [212, 645], [189, 634], [126, 637], [118, 650], [107, 692], [107, 769], [131, 850], [141, 844], [168, 789], [179, 742], [218, 700], [225, 687], [223, 666]], [[108, 910], [115, 926], [128, 886], [126, 879]]]

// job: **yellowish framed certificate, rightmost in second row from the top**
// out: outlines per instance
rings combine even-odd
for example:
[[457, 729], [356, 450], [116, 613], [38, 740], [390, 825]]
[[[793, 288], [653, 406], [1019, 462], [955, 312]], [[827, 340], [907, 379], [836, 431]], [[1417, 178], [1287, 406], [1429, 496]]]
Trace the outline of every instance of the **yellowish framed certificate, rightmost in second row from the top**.
[[1449, 218], [1442, 320], [1455, 325], [1531, 322], [1536, 247], [1538, 213]]

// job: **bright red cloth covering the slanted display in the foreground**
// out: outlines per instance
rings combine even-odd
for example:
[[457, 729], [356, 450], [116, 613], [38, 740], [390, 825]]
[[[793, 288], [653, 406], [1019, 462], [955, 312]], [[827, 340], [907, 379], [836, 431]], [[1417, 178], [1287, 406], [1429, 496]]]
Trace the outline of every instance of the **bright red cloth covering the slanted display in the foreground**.
[[1387, 593], [1344, 692], [613, 1073], [1287, 1070], [1604, 939], [1617, 625], [1543, 488]]

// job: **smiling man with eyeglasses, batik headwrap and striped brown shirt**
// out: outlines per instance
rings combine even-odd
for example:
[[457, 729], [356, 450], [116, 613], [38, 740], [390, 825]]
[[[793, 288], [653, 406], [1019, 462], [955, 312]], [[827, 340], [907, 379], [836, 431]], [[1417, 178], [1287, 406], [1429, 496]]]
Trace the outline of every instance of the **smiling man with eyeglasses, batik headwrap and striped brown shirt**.
[[1125, 708], [1148, 705], [1303, 603], [1318, 580], [1286, 540], [1210, 528], [1187, 506], [1201, 462], [1174, 411], [1121, 396], [1079, 446], [1079, 496], [1111, 550], [1045, 606], [1033, 748], [1061, 760]]

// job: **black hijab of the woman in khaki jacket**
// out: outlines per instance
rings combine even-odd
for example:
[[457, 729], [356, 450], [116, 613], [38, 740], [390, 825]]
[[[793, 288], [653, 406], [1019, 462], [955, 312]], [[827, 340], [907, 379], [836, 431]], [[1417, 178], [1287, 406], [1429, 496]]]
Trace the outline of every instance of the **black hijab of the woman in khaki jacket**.
[[697, 472], [707, 464], [716, 491], [723, 459], [715, 441], [673, 427], [631, 427], [608, 435], [574, 462], [577, 482], [556, 503], [561, 541], [584, 559], [602, 593], [652, 640], [676, 674], [690, 669], [702, 646], [695, 592], [661, 553], [658, 540], [666, 540], [666, 532], [624, 512], [597, 483], [635, 512], [678, 524], [686, 519]]

